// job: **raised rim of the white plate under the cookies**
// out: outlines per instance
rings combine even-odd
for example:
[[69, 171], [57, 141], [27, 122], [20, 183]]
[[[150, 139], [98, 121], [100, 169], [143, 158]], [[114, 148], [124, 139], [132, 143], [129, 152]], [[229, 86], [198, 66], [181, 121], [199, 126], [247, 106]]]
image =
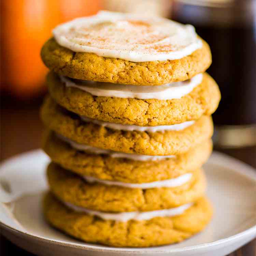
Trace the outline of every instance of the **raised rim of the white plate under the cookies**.
[[[11, 158], [5, 159], [0, 164], [0, 171], [1, 171], [1, 169], [4, 168], [5, 165], [12, 164], [11, 162], [14, 160], [18, 160], [19, 158], [22, 158], [22, 157], [31, 157], [33, 155], [42, 154], [42, 153], [43, 153], [43, 151], [41, 149], [36, 149], [36, 150], [27, 151], [25, 153], [18, 154]], [[218, 159], [219, 161], [216, 161], [216, 159]], [[251, 167], [250, 165], [248, 165], [234, 157], [228, 156], [221, 152], [214, 151], [212, 153], [210, 159], [208, 160], [208, 162], [213, 163], [214, 165], [217, 165], [217, 166], [226, 166], [226, 164], [228, 163], [228, 167], [230, 169], [232, 169], [232, 171], [237, 172], [238, 174], [243, 175], [243, 176], [247, 177], [248, 179], [254, 180], [256, 182], [255, 169], [253, 167]], [[56, 240], [56, 239], [49, 239], [47, 237], [35, 235], [30, 232], [25, 232], [25, 231], [23, 232], [21, 230], [10, 227], [10, 226], [2, 223], [1, 221], [0, 221], [0, 227], [4, 228], [6, 230], [9, 230], [10, 232], [18, 233], [18, 235], [20, 235], [20, 236], [28, 236], [31, 239], [36, 239], [36, 240], [41, 240], [41, 241], [43, 240], [44, 242], [49, 243], [49, 244], [58, 244], [61, 246], [80, 248], [80, 249], [86, 249], [86, 250], [97, 251], [97, 252], [107, 251], [107, 252], [115, 252], [115, 253], [122, 252], [122, 253], [127, 253], [127, 254], [130, 254], [130, 253], [138, 253], [138, 254], [160, 253], [161, 254], [161, 253], [166, 253], [166, 252], [178, 253], [178, 252], [185, 252], [185, 251], [191, 251], [191, 250], [199, 250], [199, 249], [206, 248], [206, 247], [213, 247], [213, 246], [221, 245], [221, 244], [227, 243], [229, 241], [239, 239], [242, 236], [250, 236], [254, 232], [256, 235], [256, 225], [254, 225], [253, 227], [248, 228], [248, 229], [246, 229], [242, 232], [239, 232], [237, 234], [234, 234], [233, 236], [219, 239], [219, 240], [216, 240], [213, 242], [202, 243], [202, 244], [198, 244], [198, 245], [189, 245], [189, 246], [184, 246], [184, 247], [180, 247], [180, 248], [162, 248], [159, 250], [158, 248], [160, 248], [160, 246], [159, 247], [157, 247], [157, 246], [156, 247], [142, 247], [142, 248], [105, 246], [104, 248], [99, 248], [99, 245], [93, 245], [93, 244], [92, 245], [83, 245], [83, 244], [78, 244], [75, 242], [65, 242], [65, 241], [60, 241], [60, 240]]]

